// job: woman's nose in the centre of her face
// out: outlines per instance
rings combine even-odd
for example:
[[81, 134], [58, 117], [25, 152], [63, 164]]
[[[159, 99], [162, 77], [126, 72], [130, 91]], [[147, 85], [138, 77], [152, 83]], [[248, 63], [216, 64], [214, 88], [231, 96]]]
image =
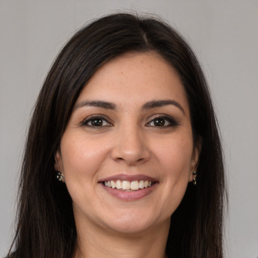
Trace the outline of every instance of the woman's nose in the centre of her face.
[[148, 161], [151, 153], [144, 132], [141, 132], [137, 125], [121, 128], [116, 135], [111, 156], [113, 160], [127, 165], [136, 165]]

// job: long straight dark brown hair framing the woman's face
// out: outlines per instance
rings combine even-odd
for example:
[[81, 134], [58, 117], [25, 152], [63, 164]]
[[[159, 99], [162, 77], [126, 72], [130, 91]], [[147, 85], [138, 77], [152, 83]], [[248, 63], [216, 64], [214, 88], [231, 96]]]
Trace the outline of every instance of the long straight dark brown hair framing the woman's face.
[[103, 64], [127, 52], [155, 51], [187, 94], [194, 143], [202, 142], [197, 185], [171, 217], [169, 257], [222, 257], [224, 168], [218, 125], [200, 64], [185, 40], [156, 18], [113, 14], [78, 31], [54, 61], [37, 99], [22, 164], [15, 257], [71, 258], [77, 233], [72, 200], [56, 180], [54, 155], [74, 104]]

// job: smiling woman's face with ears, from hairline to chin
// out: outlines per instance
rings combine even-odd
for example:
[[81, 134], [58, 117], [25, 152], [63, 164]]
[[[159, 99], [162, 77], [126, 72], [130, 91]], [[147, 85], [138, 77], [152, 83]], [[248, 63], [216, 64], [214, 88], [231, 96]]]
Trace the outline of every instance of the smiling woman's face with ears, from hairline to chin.
[[155, 53], [94, 74], [56, 153], [77, 226], [125, 233], [169, 225], [198, 156], [182, 83]]

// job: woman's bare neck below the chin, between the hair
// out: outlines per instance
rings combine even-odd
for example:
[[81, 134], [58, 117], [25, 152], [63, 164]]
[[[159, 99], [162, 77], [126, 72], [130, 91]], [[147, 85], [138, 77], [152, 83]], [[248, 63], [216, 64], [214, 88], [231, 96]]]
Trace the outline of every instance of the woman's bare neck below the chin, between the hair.
[[74, 258], [164, 258], [169, 223], [130, 234], [80, 223]]

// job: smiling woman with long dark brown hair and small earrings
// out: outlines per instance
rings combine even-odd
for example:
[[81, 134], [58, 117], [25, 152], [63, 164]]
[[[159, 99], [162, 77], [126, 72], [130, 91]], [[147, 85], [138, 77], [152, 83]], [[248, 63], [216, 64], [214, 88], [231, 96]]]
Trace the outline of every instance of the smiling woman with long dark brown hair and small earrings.
[[31, 120], [14, 257], [222, 257], [223, 198], [212, 101], [182, 37], [131, 14], [77, 32]]

